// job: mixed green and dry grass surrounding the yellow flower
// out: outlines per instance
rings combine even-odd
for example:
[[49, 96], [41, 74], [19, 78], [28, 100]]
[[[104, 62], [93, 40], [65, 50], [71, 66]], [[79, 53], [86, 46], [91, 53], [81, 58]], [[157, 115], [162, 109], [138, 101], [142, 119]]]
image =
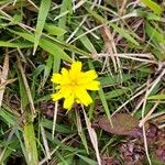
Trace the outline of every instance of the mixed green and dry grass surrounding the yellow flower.
[[[0, 164], [97, 165], [105, 155], [122, 164], [118, 146], [128, 138], [90, 125], [117, 112], [156, 117], [164, 129], [165, 6], [118, 1], [0, 1]], [[73, 59], [95, 69], [101, 87], [86, 113], [67, 112], [62, 100], [56, 118], [51, 77]]]

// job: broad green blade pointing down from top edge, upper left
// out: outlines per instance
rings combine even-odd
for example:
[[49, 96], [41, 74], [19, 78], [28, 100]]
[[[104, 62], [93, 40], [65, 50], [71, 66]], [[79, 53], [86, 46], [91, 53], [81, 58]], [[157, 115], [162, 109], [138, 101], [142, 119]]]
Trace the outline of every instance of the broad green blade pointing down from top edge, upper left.
[[36, 30], [35, 30], [35, 36], [34, 36], [34, 51], [33, 54], [36, 51], [36, 47], [40, 43], [40, 37], [42, 35], [42, 31], [44, 29], [44, 24], [46, 21], [46, 16], [48, 14], [48, 10], [51, 7], [51, 0], [42, 0], [41, 6], [38, 9], [38, 16], [37, 16], [37, 23], [36, 23]]

